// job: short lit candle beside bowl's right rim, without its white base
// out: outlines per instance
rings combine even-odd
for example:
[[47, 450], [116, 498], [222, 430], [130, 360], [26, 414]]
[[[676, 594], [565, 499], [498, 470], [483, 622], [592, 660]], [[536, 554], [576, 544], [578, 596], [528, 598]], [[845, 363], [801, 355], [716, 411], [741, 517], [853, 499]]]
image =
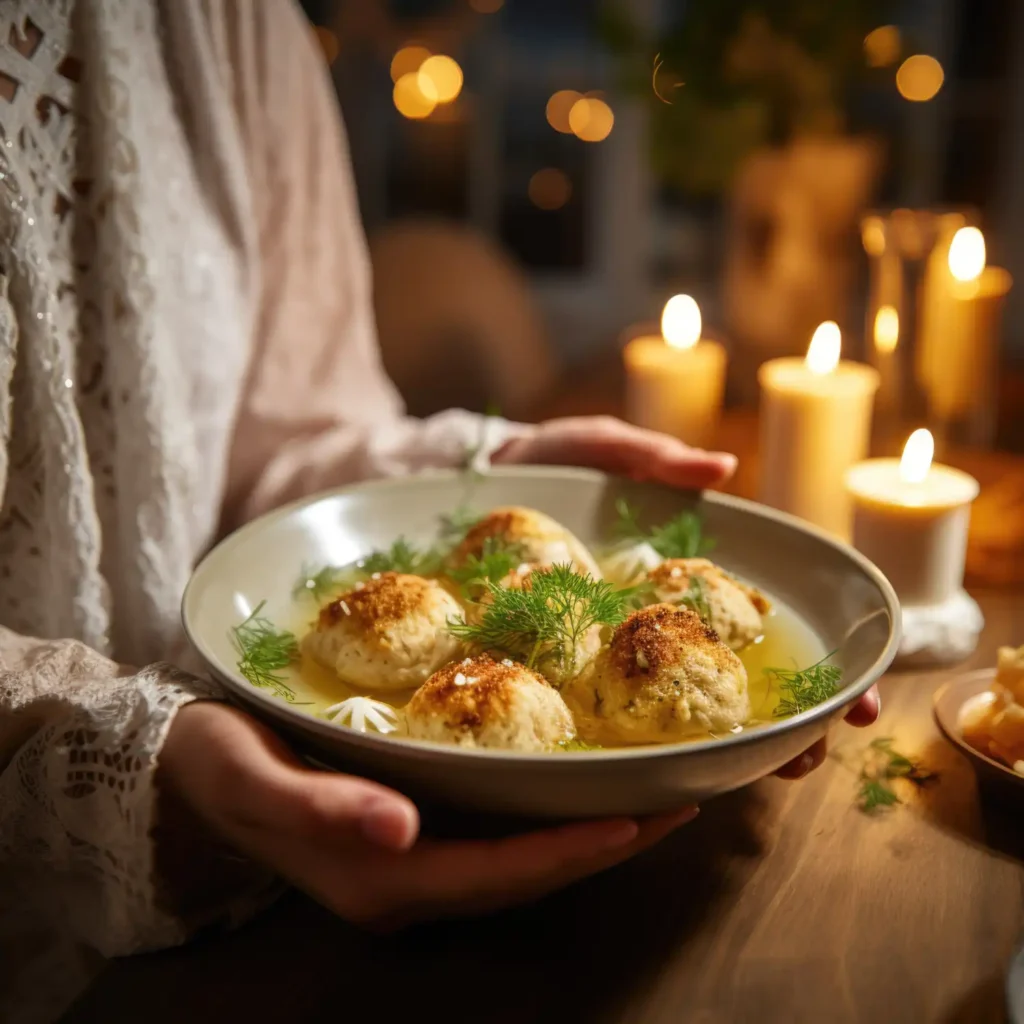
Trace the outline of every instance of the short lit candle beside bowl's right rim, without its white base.
[[902, 459], [869, 459], [847, 473], [853, 543], [906, 606], [946, 604], [964, 584], [971, 503], [978, 481], [933, 465], [935, 441], [915, 430]]

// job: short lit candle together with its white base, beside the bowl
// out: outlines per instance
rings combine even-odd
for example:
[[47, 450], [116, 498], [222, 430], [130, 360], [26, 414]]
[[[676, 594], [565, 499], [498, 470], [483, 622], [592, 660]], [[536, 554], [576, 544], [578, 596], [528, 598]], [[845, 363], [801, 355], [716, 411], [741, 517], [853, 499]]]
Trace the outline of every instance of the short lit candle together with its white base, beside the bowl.
[[899, 656], [947, 663], [977, 646], [984, 618], [964, 590], [971, 504], [978, 481], [935, 466], [935, 441], [914, 431], [902, 459], [850, 469], [853, 543], [886, 574], [903, 611]]

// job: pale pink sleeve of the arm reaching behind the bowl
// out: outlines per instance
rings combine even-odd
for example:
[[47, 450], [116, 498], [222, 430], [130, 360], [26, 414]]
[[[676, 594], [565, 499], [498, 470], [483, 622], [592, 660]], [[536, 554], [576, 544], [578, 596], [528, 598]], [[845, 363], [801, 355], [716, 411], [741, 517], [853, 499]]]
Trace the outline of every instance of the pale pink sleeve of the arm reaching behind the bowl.
[[[236, 422], [224, 525], [341, 483], [460, 464], [531, 429], [454, 410], [403, 415], [377, 344], [371, 268], [340, 114], [295, 5], [228, 24], [230, 76], [257, 197], [263, 282]], [[229, 6], [224, 16], [236, 16]]]

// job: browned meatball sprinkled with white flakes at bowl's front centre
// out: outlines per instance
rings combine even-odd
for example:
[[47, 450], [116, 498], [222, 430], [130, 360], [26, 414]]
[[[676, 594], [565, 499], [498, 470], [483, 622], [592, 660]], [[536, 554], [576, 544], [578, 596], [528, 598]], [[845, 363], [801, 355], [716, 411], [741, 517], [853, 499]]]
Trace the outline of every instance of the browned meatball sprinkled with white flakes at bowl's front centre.
[[557, 690], [515, 662], [467, 657], [445, 666], [406, 708], [414, 739], [506, 751], [550, 751], [575, 735]]

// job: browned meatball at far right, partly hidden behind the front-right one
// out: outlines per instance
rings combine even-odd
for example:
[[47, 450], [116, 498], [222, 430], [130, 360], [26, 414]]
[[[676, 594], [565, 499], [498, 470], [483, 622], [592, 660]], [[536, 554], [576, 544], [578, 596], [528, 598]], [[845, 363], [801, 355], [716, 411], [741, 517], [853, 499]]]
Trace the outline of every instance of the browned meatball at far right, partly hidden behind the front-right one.
[[647, 573], [658, 602], [678, 603], [690, 591], [690, 581], [701, 582], [710, 625], [733, 650], [742, 650], [764, 632], [762, 615], [771, 605], [759, 590], [733, 579], [707, 558], [671, 558]]

